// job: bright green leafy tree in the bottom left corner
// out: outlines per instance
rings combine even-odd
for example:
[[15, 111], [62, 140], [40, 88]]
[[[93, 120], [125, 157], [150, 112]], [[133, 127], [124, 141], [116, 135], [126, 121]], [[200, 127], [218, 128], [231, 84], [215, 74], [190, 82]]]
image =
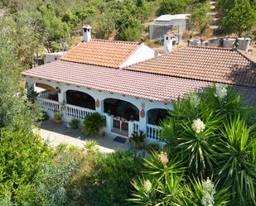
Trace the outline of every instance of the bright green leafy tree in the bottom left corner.
[[[0, 132], [0, 204], [25, 205], [36, 194], [37, 174], [51, 153], [32, 132]], [[30, 198], [28, 198], [30, 197]]]

